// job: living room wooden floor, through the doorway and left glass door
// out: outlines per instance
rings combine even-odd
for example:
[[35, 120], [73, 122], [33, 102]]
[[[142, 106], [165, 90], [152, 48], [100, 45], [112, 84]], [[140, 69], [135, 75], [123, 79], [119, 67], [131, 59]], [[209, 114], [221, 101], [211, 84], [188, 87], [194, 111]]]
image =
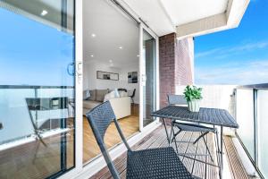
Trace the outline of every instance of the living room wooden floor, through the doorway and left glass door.
[[[95, 138], [89, 127], [88, 121], [84, 118], [84, 158], [86, 163], [95, 158], [100, 150], [96, 145]], [[138, 116], [130, 115], [118, 120], [122, 132], [130, 137], [138, 132]], [[73, 166], [73, 132], [68, 133], [67, 145], [67, 168]], [[61, 170], [61, 137], [54, 135], [44, 139], [46, 147], [38, 142], [32, 141], [27, 144], [0, 151], [0, 179], [30, 179], [46, 178]], [[108, 148], [121, 142], [114, 124], [111, 124], [105, 135], [105, 143]]]

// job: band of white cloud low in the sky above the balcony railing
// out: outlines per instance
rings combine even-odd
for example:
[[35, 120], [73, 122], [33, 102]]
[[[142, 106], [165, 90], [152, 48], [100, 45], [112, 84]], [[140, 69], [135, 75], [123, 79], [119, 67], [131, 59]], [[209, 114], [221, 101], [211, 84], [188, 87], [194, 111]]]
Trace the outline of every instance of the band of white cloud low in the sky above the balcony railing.
[[268, 82], [268, 59], [197, 68], [197, 84], [258, 84]]

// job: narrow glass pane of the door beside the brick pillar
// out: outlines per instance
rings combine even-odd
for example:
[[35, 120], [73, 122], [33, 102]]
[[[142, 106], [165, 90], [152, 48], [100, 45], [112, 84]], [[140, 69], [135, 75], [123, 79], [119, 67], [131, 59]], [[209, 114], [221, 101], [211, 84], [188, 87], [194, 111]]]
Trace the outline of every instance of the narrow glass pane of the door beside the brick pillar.
[[155, 79], [155, 38], [147, 31], [143, 31], [143, 126], [152, 123], [155, 119], [151, 113], [156, 107], [156, 79]]

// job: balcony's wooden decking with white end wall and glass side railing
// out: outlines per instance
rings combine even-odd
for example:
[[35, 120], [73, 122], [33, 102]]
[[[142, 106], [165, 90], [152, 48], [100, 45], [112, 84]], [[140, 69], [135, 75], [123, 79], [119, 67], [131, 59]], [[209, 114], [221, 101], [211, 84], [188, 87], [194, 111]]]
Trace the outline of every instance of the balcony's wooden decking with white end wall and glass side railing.
[[[225, 129], [224, 131], [224, 158], [223, 178], [264, 178], [267, 175], [265, 168], [265, 149], [267, 143], [264, 141], [265, 123], [264, 108], [268, 99], [266, 84], [234, 86], [234, 85], [205, 85], [202, 107], [217, 107], [228, 109], [239, 123], [238, 130]], [[177, 87], [177, 93], [185, 86]], [[170, 130], [171, 126], [168, 126]], [[213, 134], [207, 137], [209, 148], [213, 153], [214, 161], [207, 154], [203, 141], [196, 145], [190, 143], [198, 136], [196, 132], [182, 132], [178, 137], [179, 153], [191, 153], [192, 158], [180, 156], [181, 161], [188, 171], [200, 178], [219, 178], [219, 170], [216, 162], [215, 138]], [[266, 145], [266, 146], [265, 146]], [[168, 141], [163, 125], [145, 138], [138, 141], [132, 149], [151, 149], [167, 147]], [[175, 149], [174, 143], [172, 147]], [[199, 155], [198, 155], [199, 154]], [[126, 177], [126, 153], [116, 158], [113, 162], [120, 172], [121, 178]], [[205, 164], [208, 163], [208, 164]], [[91, 178], [111, 178], [107, 167], [93, 175]]]

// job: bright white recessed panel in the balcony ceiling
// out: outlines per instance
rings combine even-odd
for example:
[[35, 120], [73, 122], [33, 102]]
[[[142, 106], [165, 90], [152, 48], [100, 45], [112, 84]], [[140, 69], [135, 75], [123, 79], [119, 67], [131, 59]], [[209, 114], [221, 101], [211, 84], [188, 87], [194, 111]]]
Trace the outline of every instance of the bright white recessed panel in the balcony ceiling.
[[178, 26], [224, 13], [228, 0], [160, 0], [172, 22]]

